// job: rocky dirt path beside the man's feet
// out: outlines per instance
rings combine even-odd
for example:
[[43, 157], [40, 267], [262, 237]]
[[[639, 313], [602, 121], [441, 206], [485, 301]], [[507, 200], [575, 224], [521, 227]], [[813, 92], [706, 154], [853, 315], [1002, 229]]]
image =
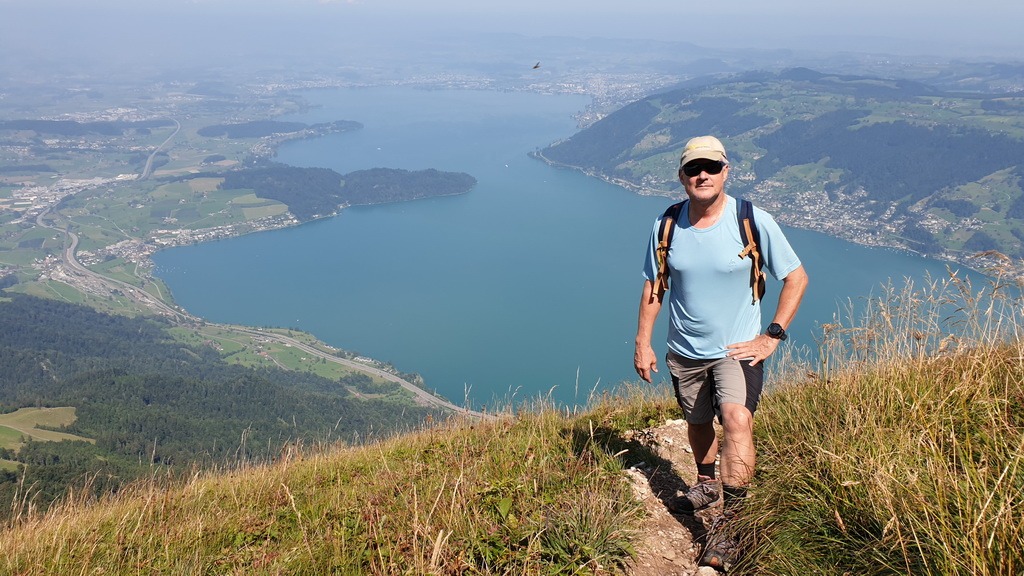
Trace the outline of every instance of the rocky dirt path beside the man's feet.
[[696, 516], [673, 515], [666, 502], [696, 480], [693, 453], [686, 439], [686, 422], [669, 420], [634, 434], [634, 440], [657, 457], [630, 468], [633, 488], [647, 511], [645, 536], [630, 567], [630, 576], [715, 576], [715, 569], [696, 565], [703, 541], [705, 522], [717, 507]]

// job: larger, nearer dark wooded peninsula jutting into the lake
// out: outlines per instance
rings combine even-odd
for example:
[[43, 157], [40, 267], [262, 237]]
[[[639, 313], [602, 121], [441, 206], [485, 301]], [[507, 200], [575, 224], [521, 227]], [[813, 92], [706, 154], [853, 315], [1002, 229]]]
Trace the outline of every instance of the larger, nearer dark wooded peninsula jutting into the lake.
[[371, 168], [340, 174], [329, 168], [270, 163], [228, 172], [221, 190], [252, 190], [288, 206], [300, 221], [326, 216], [345, 206], [384, 204], [469, 192], [476, 178], [463, 172]]

